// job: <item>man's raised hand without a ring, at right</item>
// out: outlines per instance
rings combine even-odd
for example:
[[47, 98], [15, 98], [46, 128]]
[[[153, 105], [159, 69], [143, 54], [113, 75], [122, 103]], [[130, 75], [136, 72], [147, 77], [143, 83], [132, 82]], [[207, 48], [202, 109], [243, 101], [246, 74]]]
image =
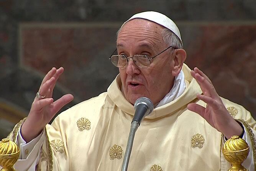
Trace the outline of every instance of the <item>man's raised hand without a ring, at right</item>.
[[233, 135], [240, 136], [243, 133], [243, 128], [228, 113], [213, 87], [212, 81], [198, 68], [194, 68], [190, 73], [203, 92], [203, 94], [197, 95], [197, 98], [207, 103], [207, 105], [203, 107], [196, 103], [190, 103], [187, 108], [201, 115], [212, 127], [222, 132], [226, 138]]

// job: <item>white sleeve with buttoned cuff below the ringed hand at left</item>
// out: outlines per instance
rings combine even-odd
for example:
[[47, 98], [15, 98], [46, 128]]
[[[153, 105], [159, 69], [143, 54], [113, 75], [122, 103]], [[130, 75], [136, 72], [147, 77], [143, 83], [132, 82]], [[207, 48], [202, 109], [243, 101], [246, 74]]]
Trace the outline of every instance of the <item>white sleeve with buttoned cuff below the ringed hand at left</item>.
[[14, 167], [18, 171], [35, 171], [36, 165], [40, 160], [41, 147], [45, 138], [45, 131], [42, 131], [39, 136], [26, 143], [18, 131], [18, 147], [20, 147], [20, 156]]

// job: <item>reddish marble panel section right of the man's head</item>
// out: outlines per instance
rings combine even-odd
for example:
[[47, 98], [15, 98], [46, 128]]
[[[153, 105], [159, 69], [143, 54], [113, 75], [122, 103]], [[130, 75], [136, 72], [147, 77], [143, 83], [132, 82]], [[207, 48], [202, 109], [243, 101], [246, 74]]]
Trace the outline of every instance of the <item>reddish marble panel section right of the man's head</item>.
[[256, 25], [190, 26], [187, 61], [202, 69], [217, 92], [256, 118]]

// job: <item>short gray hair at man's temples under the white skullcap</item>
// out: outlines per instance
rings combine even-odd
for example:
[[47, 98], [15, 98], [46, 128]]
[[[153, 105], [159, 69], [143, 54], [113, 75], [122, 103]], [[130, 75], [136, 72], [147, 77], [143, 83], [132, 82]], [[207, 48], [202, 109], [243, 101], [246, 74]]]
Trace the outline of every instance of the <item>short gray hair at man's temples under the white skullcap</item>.
[[[117, 37], [118, 37], [118, 34], [120, 31], [121, 31], [121, 28], [119, 28], [117, 31]], [[163, 28], [161, 31], [161, 34], [162, 34], [162, 38], [163, 38], [164, 42], [168, 46], [172, 46], [174, 48], [179, 48], [179, 49], [183, 48], [181, 40], [171, 30], [169, 30], [167, 28]]]

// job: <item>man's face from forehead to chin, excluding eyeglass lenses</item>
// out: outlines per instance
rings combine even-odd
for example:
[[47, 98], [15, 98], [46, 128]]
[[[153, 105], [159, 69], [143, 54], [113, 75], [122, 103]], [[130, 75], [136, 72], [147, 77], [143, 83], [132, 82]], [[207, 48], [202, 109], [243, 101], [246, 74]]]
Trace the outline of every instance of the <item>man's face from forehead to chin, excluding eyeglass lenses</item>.
[[[133, 19], [126, 23], [117, 37], [117, 52], [126, 56], [148, 55], [153, 57], [168, 47], [162, 39], [163, 27], [145, 20]], [[140, 97], [148, 97], [154, 104], [171, 90], [174, 82], [172, 48], [153, 58], [148, 68], [139, 68], [130, 59], [126, 68], [119, 68], [122, 91], [134, 104]]]

